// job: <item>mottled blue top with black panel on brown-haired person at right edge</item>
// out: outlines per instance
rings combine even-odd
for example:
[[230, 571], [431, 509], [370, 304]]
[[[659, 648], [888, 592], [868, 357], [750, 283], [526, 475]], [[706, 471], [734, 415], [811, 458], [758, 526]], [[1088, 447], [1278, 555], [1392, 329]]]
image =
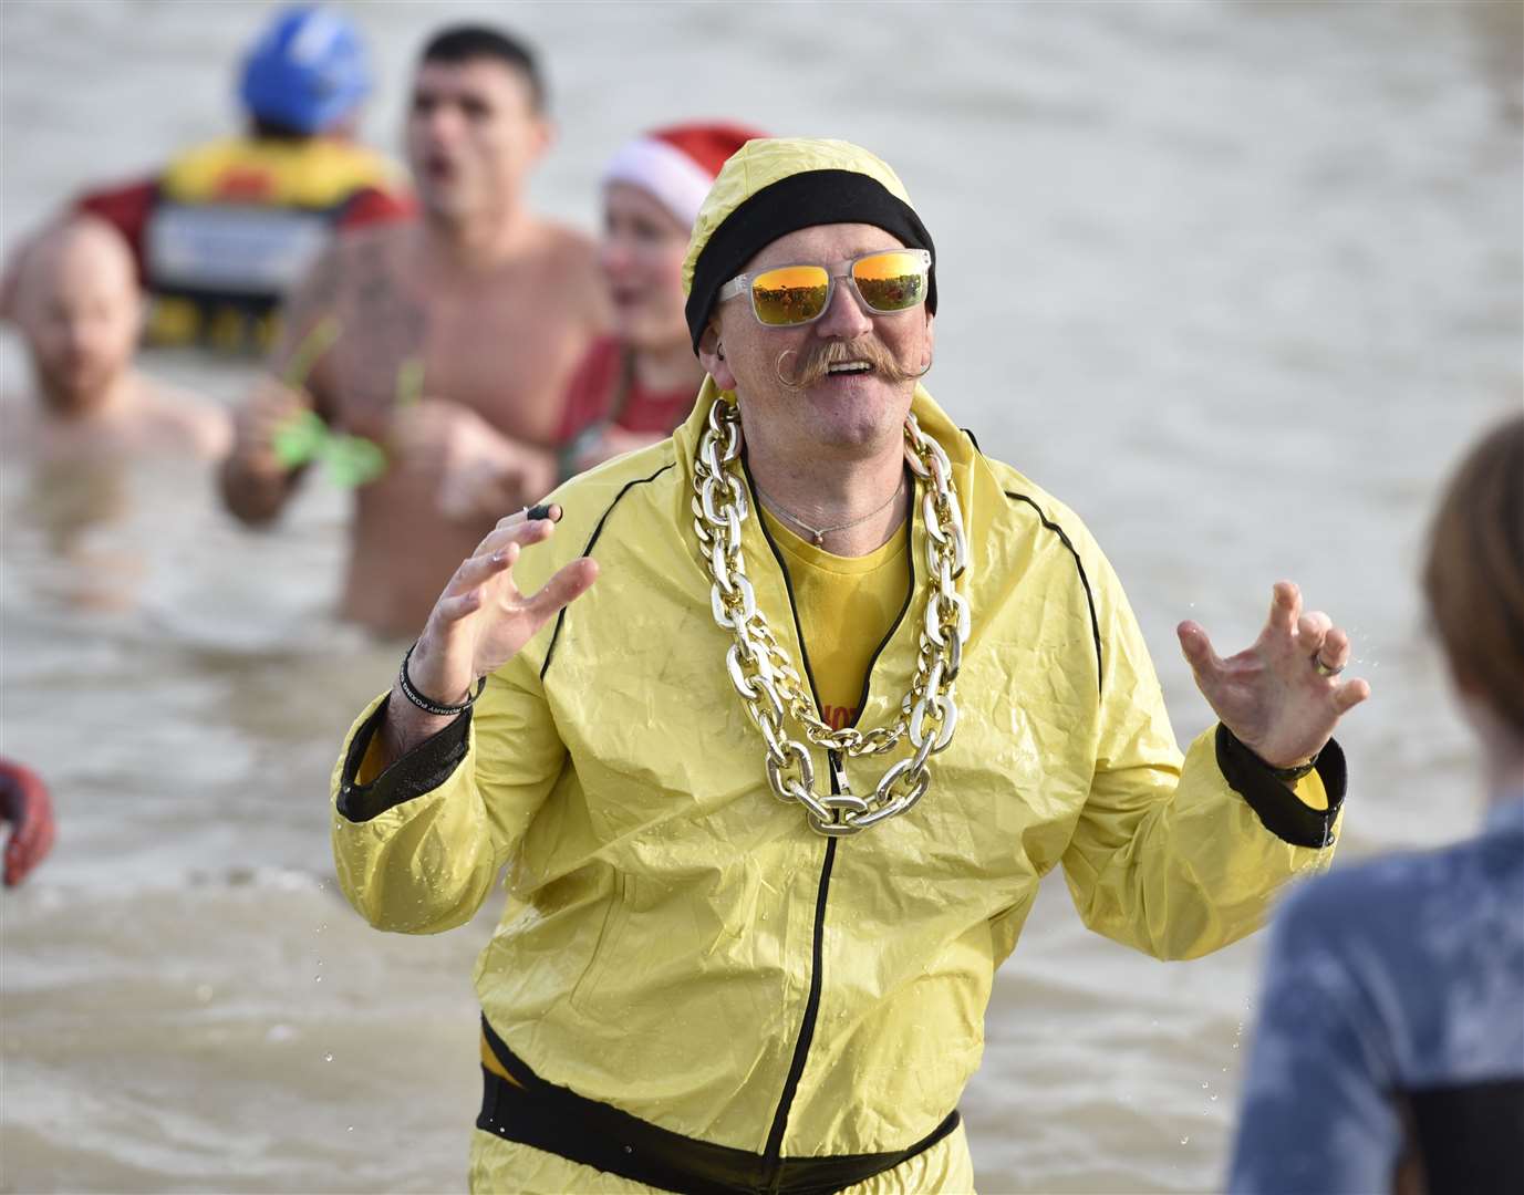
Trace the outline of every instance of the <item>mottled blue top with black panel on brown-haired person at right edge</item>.
[[1280, 910], [1228, 1190], [1524, 1190], [1524, 794]]

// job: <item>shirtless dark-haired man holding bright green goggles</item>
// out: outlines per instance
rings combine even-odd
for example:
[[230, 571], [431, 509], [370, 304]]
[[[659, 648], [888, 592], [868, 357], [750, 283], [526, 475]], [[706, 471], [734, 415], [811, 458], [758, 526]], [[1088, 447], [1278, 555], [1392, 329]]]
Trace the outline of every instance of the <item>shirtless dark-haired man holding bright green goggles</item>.
[[355, 494], [343, 596], [378, 634], [416, 630], [462, 553], [556, 482], [562, 395], [605, 300], [591, 242], [524, 207], [549, 142], [527, 50], [483, 27], [439, 34], [407, 117], [421, 219], [334, 244], [238, 419], [223, 494], [253, 524], [294, 491], [302, 466], [276, 441], [305, 408], [386, 453]]

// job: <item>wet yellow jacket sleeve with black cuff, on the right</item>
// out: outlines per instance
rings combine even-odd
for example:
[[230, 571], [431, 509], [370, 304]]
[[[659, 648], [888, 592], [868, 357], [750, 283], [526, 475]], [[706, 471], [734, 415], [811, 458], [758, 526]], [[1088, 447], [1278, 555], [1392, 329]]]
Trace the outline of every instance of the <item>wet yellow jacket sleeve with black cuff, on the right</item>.
[[1295, 793], [1222, 727], [1181, 759], [1122, 585], [1085, 549], [1100, 706], [1090, 796], [1064, 854], [1068, 889], [1097, 933], [1158, 959], [1207, 954], [1257, 928], [1283, 881], [1327, 866], [1344, 759], [1329, 742]]

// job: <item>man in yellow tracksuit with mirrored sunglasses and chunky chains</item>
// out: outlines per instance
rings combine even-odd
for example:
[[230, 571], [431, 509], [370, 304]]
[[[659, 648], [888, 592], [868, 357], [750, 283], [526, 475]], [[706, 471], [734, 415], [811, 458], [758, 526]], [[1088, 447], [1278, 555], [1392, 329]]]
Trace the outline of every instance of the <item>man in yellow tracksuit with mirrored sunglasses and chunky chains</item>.
[[433, 933], [509, 867], [474, 1189], [968, 1190], [1041, 876], [1157, 957], [1250, 933], [1369, 687], [1282, 582], [1239, 655], [1181, 626], [1181, 758], [1085, 527], [919, 386], [934, 250], [872, 154], [750, 142], [686, 277], [692, 416], [462, 562], [335, 768], [338, 875]]

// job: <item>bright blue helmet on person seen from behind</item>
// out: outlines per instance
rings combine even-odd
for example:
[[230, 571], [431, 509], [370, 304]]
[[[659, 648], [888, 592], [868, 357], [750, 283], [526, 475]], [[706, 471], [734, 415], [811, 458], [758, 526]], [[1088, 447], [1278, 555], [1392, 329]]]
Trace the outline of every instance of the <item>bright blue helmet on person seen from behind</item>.
[[315, 6], [288, 8], [244, 59], [238, 95], [261, 120], [319, 133], [370, 91], [364, 43], [344, 17]]

